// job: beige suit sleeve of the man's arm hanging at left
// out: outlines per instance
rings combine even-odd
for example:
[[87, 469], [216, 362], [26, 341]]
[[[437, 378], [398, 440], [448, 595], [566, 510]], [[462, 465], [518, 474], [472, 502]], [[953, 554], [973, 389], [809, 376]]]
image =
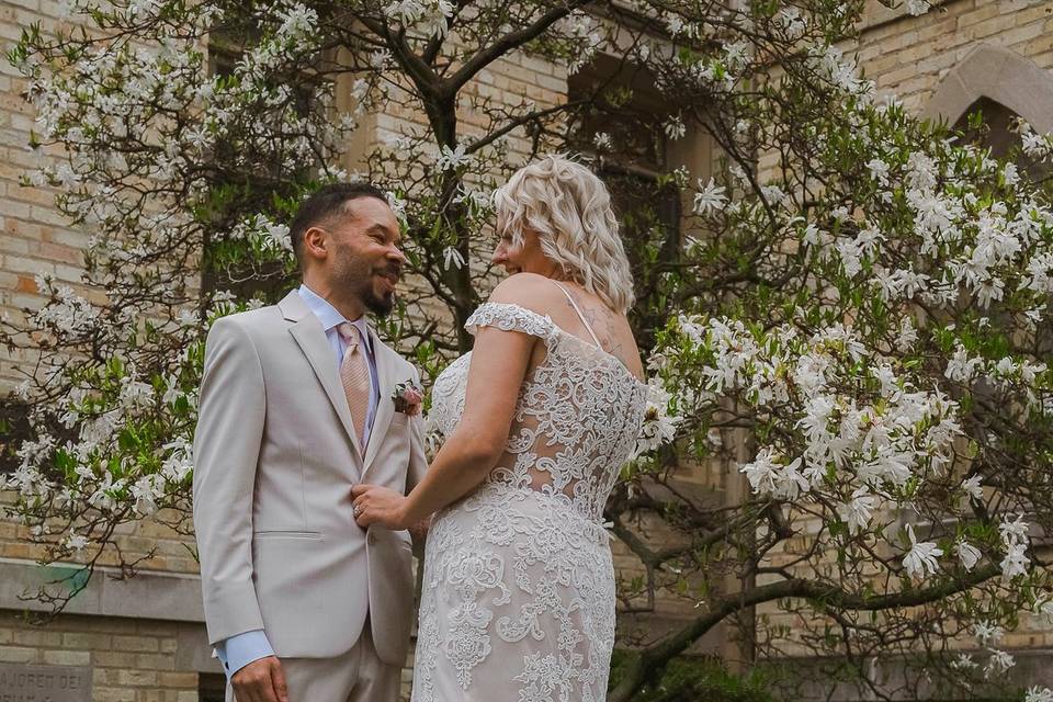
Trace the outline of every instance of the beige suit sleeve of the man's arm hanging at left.
[[236, 320], [219, 319], [205, 343], [194, 433], [194, 531], [213, 644], [263, 629], [252, 584], [252, 497], [264, 416], [256, 346]]

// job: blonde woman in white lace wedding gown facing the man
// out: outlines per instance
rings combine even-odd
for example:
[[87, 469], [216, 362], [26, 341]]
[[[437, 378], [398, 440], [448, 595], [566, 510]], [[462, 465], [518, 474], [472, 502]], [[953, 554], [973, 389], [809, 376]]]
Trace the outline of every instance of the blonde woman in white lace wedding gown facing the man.
[[363, 526], [434, 513], [415, 702], [600, 701], [614, 645], [603, 507], [643, 422], [632, 278], [602, 182], [546, 157], [496, 194], [511, 275], [435, 381], [445, 437], [403, 497], [356, 486]]

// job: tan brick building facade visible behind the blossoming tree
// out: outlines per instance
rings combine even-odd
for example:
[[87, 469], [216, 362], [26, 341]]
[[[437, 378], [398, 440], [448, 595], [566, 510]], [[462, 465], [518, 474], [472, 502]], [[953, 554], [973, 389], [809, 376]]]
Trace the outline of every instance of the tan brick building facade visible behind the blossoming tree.
[[[846, 53], [858, 54], [867, 77], [880, 90], [899, 95], [918, 114], [951, 124], [962, 124], [971, 111], [983, 110], [994, 125], [985, 138], [996, 149], [999, 139], [1008, 138], [1012, 116], [1027, 120], [1038, 132], [1053, 131], [1053, 2], [948, 0], [915, 18], [904, 9], [868, 1], [862, 37]], [[36, 22], [45, 31], [61, 22], [59, 3], [0, 0], [0, 37], [5, 44]], [[537, 104], [564, 101], [575, 90], [564, 67], [529, 56], [485, 71], [477, 82], [480, 92], [509, 100], [528, 95]], [[53, 192], [19, 182], [36, 165], [27, 148], [34, 115], [21, 98], [24, 88], [18, 72], [0, 63], [0, 314], [15, 320], [24, 308], [42, 302], [36, 274], [78, 283], [87, 240], [55, 211]], [[364, 125], [364, 138], [383, 138], [397, 133], [399, 122], [417, 120], [414, 114], [376, 115]], [[695, 172], [712, 159], [704, 139], [698, 138], [677, 141], [669, 156], [673, 165], [689, 165]], [[29, 363], [31, 359], [0, 349], [0, 397], [10, 395]], [[689, 471], [684, 479], [733, 498], [741, 489], [731, 464], [715, 474], [712, 466]], [[36, 626], [30, 620], [46, 607], [22, 595], [45, 581], [77, 587], [76, 568], [37, 566], [39, 553], [25, 536], [16, 524], [0, 521], [0, 700], [7, 699], [5, 684], [65, 686], [66, 697], [55, 697], [64, 702], [223, 699], [224, 679], [205, 639], [196, 564], [185, 537], [151, 522], [120, 534], [129, 553], [152, 554], [140, 573], [121, 579], [104, 566], [65, 613]], [[616, 553], [623, 577], [646, 577], [627, 551]], [[645, 604], [647, 621], [655, 625], [683, 615], [683, 600], [672, 593], [659, 593]], [[726, 638], [717, 632], [702, 648], [720, 648]], [[1053, 631], [1039, 621], [1024, 621], [1004, 645], [1023, 670], [1039, 675], [1035, 666], [1053, 649]]]

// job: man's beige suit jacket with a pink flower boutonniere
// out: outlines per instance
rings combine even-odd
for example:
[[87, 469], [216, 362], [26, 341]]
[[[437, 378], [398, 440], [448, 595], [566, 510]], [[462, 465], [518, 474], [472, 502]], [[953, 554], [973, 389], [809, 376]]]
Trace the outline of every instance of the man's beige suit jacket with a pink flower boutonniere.
[[351, 486], [405, 492], [423, 477], [421, 418], [392, 400], [419, 375], [372, 341], [381, 393], [362, 455], [332, 349], [296, 291], [213, 326], [193, 498], [213, 644], [262, 629], [279, 657], [331, 657], [354, 645], [369, 612], [381, 659], [405, 661], [409, 534], [358, 526]]

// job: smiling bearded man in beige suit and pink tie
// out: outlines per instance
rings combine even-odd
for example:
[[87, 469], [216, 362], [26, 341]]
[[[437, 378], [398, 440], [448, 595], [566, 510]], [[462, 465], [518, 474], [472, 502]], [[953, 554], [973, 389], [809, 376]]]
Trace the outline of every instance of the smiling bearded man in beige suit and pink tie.
[[406, 259], [384, 193], [322, 188], [290, 226], [303, 285], [215, 322], [194, 439], [194, 528], [227, 702], [394, 702], [414, 605], [407, 532], [354, 522], [351, 487], [409, 491], [417, 371], [365, 321]]

